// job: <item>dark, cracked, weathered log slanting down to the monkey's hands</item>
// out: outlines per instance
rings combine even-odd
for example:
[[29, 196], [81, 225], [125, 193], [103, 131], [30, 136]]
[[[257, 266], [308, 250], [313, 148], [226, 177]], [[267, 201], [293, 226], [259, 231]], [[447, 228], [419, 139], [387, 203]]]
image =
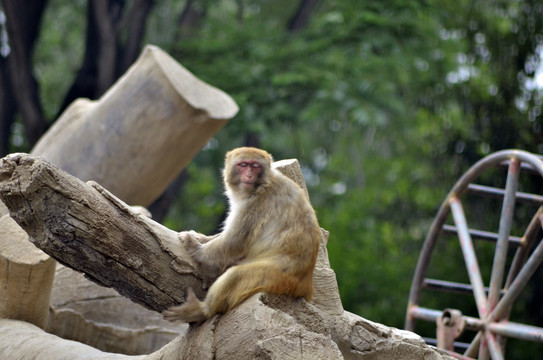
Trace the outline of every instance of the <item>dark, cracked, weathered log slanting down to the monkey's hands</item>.
[[32, 155], [0, 163], [0, 198], [30, 241], [59, 262], [148, 309], [203, 295], [177, 233], [141, 215], [95, 182]]

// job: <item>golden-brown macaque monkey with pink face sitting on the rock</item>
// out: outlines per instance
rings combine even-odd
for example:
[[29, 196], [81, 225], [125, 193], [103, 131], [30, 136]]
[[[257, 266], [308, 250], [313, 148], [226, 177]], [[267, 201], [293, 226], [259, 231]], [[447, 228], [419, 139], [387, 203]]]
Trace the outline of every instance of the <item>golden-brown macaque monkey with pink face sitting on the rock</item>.
[[311, 299], [320, 227], [305, 192], [271, 163], [270, 154], [256, 148], [226, 154], [223, 179], [230, 208], [223, 232], [179, 233], [199, 264], [226, 271], [204, 301], [189, 288], [185, 303], [164, 311], [165, 319], [203, 321], [258, 292]]

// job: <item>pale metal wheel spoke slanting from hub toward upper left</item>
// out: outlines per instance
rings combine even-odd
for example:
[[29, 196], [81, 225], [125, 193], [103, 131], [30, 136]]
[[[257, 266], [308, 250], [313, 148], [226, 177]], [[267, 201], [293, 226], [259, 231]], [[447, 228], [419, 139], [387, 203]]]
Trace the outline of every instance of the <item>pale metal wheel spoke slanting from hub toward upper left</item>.
[[458, 238], [460, 239], [460, 246], [462, 247], [462, 253], [464, 254], [464, 260], [468, 269], [469, 278], [471, 285], [473, 286], [473, 295], [475, 296], [477, 310], [479, 311], [479, 316], [481, 319], [486, 319], [487, 299], [485, 287], [483, 285], [483, 278], [481, 277], [479, 263], [477, 262], [477, 257], [475, 256], [473, 242], [469, 234], [466, 216], [464, 215], [462, 204], [457, 197], [451, 197], [450, 205], [454, 223], [458, 229]]

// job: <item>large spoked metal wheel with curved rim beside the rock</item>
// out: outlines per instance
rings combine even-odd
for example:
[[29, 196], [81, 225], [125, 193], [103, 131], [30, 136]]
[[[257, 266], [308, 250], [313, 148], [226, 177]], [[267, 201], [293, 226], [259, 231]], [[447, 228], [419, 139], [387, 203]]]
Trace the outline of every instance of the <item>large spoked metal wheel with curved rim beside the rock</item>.
[[[490, 169], [504, 166], [508, 169], [504, 189], [474, 183], [480, 181], [481, 176]], [[409, 294], [405, 328], [416, 332], [417, 320], [434, 322], [437, 326], [438, 347], [457, 358], [478, 356], [479, 359], [503, 359], [507, 338], [543, 342], [543, 328], [509, 321], [514, 302], [543, 261], [543, 196], [521, 191], [521, 172], [543, 177], [542, 158], [520, 150], [506, 150], [477, 162], [447, 195], [424, 242]], [[497, 208], [497, 233], [468, 226], [468, 217], [464, 211], [464, 202], [467, 204], [470, 201], [466, 199], [468, 196], [501, 199], [501, 212]], [[474, 203], [473, 200], [469, 202]], [[511, 230], [515, 209], [519, 204], [527, 204], [533, 210], [523, 210], [523, 214], [530, 214], [531, 220], [523, 225], [525, 231], [522, 237], [515, 237], [511, 235]], [[477, 215], [481, 217], [481, 214]], [[518, 224], [515, 226], [518, 228]], [[436, 245], [450, 242], [451, 235], [459, 240], [469, 284], [428, 277], [432, 255], [434, 258], [440, 256], [434, 251]], [[472, 239], [495, 244], [491, 246], [494, 253], [487, 256], [491, 260], [487, 267], [490, 274], [482, 273], [478, 261], [481, 253], [475, 250]], [[509, 249], [515, 251], [508, 253]], [[488, 287], [484, 285], [485, 276], [489, 279]], [[462, 310], [454, 309], [454, 306], [442, 310], [422, 306], [421, 294], [431, 290], [470, 294], [475, 300], [478, 316], [466, 316]], [[428, 295], [423, 298], [427, 299]], [[446, 299], [449, 300], [452, 302], [454, 297]], [[471, 342], [465, 344], [463, 355], [460, 355], [453, 350], [454, 341], [464, 330], [473, 331], [473, 336], [470, 337]]]

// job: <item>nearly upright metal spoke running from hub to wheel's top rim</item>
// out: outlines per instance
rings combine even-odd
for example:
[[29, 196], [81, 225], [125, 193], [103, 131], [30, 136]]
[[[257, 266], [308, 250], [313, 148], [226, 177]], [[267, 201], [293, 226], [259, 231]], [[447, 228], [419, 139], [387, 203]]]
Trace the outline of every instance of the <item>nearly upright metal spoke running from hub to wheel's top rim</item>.
[[503, 199], [502, 214], [500, 219], [500, 228], [498, 231], [498, 242], [494, 254], [494, 263], [492, 265], [492, 275], [490, 276], [490, 286], [488, 294], [488, 310], [492, 311], [500, 299], [500, 290], [503, 284], [503, 275], [505, 272], [505, 260], [507, 257], [507, 247], [513, 214], [515, 211], [515, 194], [518, 187], [518, 176], [520, 172], [520, 162], [513, 158], [509, 164], [507, 173], [507, 182], [505, 185], [505, 196]]

